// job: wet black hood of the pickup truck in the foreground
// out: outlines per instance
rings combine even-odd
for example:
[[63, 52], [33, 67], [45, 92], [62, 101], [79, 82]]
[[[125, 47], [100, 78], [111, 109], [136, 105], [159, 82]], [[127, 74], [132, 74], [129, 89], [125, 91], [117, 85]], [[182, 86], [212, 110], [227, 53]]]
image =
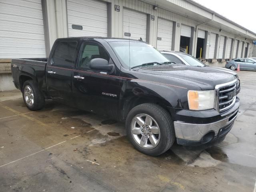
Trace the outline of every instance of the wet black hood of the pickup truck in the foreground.
[[231, 73], [216, 70], [212, 67], [196, 67], [183, 64], [160, 65], [147, 68], [139, 68], [138, 72], [156, 75], [170, 82], [193, 84], [202, 90], [213, 90], [218, 84], [235, 80]]

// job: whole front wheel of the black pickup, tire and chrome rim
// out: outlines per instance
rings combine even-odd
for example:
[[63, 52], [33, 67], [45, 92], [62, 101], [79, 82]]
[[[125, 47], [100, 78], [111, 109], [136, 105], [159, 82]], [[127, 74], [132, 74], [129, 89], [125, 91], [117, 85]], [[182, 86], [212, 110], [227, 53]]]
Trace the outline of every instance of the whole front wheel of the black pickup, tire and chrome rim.
[[134, 147], [150, 156], [166, 152], [175, 141], [170, 114], [156, 104], [140, 104], [128, 113], [126, 131]]

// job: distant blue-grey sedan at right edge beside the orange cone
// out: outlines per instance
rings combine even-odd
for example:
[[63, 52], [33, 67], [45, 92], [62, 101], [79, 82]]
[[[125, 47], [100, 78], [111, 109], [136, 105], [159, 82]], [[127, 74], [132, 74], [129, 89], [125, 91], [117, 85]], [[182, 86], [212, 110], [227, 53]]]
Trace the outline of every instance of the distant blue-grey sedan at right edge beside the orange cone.
[[253, 58], [238, 58], [226, 62], [225, 67], [231, 70], [237, 70], [240, 64], [240, 70], [256, 70], [256, 60]]

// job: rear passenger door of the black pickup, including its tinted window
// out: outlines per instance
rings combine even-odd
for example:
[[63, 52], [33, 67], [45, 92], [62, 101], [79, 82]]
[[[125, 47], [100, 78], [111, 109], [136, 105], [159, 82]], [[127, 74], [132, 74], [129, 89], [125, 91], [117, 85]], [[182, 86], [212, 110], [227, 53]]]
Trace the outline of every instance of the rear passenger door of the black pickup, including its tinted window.
[[72, 84], [74, 64], [77, 58], [77, 41], [57, 43], [52, 59], [46, 66], [46, 84], [53, 100], [65, 104], [72, 103]]

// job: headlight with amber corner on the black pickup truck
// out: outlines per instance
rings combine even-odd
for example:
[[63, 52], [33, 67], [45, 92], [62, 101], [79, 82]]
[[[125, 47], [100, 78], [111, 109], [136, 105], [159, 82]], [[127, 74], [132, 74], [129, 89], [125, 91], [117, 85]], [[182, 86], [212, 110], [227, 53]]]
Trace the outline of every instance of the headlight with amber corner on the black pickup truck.
[[190, 110], [206, 110], [214, 108], [215, 91], [188, 91], [188, 106]]

